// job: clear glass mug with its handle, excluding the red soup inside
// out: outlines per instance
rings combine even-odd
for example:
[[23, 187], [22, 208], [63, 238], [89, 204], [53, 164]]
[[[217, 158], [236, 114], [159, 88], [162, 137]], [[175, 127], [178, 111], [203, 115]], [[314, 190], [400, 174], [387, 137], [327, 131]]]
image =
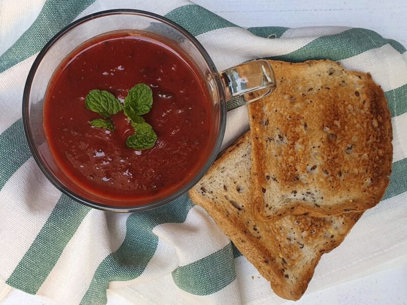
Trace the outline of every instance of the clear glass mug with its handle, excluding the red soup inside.
[[[142, 31], [183, 51], [206, 82], [212, 103], [212, 148], [203, 165], [170, 196], [148, 204], [131, 206], [105, 199], [75, 185], [53, 160], [43, 129], [43, 104], [48, 83], [62, 60], [85, 41], [111, 31]], [[138, 10], [110, 10], [83, 17], [56, 34], [41, 50], [28, 74], [24, 88], [22, 118], [24, 132], [38, 166], [60, 191], [76, 201], [106, 211], [139, 211], [168, 203], [191, 189], [215, 161], [222, 144], [226, 111], [267, 96], [275, 88], [273, 70], [266, 60], [254, 60], [218, 72], [201, 44], [180, 25], [153, 13]], [[235, 99], [234, 99], [235, 98]]]

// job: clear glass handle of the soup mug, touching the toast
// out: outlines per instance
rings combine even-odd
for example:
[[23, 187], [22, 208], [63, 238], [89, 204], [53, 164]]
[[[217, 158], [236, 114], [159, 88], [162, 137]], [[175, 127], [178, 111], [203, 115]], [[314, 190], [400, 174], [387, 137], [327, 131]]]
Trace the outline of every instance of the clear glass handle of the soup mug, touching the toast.
[[264, 59], [253, 60], [220, 72], [227, 111], [268, 96], [276, 88], [274, 71]]

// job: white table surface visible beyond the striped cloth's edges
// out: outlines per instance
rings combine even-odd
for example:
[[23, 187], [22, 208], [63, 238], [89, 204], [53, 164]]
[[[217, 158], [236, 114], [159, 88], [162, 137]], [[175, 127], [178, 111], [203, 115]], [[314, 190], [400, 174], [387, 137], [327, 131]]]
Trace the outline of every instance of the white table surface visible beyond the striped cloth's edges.
[[[195, 0], [195, 3], [240, 26], [365, 27], [407, 46], [407, 1], [405, 0]], [[285, 304], [294, 303], [407, 304], [407, 264], [389, 267], [357, 280], [306, 294], [297, 302], [288, 301]], [[13, 289], [0, 300], [0, 305], [17, 304], [52, 303], [39, 296]], [[108, 293], [108, 304], [123, 304], [123, 300], [117, 295]]]

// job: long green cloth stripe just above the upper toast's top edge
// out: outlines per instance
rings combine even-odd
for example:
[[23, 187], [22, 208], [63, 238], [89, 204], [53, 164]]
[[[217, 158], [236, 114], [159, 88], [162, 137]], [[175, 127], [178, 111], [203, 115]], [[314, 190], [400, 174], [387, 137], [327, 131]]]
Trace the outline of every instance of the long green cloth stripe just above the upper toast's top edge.
[[325, 58], [342, 60], [388, 43], [389, 40], [369, 29], [351, 28], [338, 34], [319, 37], [291, 53], [268, 58], [293, 63]]

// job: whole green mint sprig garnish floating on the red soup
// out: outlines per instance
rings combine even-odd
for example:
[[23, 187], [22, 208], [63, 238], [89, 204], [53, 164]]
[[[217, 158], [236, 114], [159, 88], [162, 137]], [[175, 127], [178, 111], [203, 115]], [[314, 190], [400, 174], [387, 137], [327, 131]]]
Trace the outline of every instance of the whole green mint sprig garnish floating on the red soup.
[[[124, 106], [111, 93], [98, 89], [92, 90], [86, 96], [85, 105], [89, 110], [97, 112], [105, 118], [124, 110], [135, 131], [135, 134], [126, 140], [128, 147], [143, 150], [155, 145], [157, 135], [153, 127], [141, 116], [150, 112], [153, 106], [153, 92], [148, 85], [139, 83], [132, 87], [124, 100]], [[110, 119], [97, 118], [90, 121], [89, 124], [114, 131], [114, 125]]]

